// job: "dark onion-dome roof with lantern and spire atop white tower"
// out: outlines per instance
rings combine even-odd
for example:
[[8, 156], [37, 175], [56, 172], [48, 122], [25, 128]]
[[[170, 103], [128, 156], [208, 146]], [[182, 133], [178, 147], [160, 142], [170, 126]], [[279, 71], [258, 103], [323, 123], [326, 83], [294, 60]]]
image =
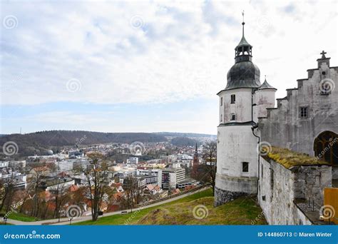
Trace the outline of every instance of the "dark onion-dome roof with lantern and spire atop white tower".
[[244, 36], [244, 14], [242, 22], [242, 39], [235, 47], [235, 64], [227, 72], [225, 90], [235, 88], [259, 88], [260, 69], [252, 63], [252, 46]]

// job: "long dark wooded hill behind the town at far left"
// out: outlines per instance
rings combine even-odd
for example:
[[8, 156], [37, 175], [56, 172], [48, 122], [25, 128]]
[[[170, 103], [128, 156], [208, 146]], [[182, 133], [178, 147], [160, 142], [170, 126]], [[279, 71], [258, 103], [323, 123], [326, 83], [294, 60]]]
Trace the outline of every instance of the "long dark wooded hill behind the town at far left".
[[[48, 149], [53, 151], [61, 146], [74, 146], [81, 142], [83, 145], [98, 143], [152, 143], [167, 141], [164, 136], [153, 133], [102, 133], [93, 131], [39, 131], [27, 134], [10, 134], [0, 137], [0, 145], [7, 141], [14, 141], [19, 147], [19, 156], [29, 156], [38, 151], [43, 153]], [[38, 153], [39, 154], [39, 153]]]

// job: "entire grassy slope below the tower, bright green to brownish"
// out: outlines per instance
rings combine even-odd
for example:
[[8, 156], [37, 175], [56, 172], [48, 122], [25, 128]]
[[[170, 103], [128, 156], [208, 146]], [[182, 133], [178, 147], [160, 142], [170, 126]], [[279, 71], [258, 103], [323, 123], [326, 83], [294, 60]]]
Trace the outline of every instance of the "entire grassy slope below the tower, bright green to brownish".
[[[193, 217], [195, 205], [205, 205], [208, 217], [202, 220]], [[213, 208], [212, 190], [189, 195], [185, 198], [165, 203], [152, 208], [140, 210], [126, 215], [112, 215], [93, 222], [91, 220], [79, 225], [250, 225], [262, 210], [252, 198], [237, 200]], [[255, 224], [266, 224], [264, 217], [257, 218]]]

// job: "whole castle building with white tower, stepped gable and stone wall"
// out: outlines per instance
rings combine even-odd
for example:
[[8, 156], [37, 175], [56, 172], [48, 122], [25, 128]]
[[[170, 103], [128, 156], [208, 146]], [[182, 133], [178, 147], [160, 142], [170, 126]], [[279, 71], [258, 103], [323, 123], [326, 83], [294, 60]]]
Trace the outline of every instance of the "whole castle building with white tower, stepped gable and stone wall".
[[[215, 206], [257, 195], [268, 223], [314, 223], [299, 201], [321, 206], [324, 188], [338, 185], [338, 67], [330, 66], [322, 51], [317, 68], [307, 70], [307, 78], [298, 79], [298, 87], [287, 89], [275, 107], [277, 89], [266, 78], [260, 82], [244, 26], [243, 21], [227, 85], [217, 93]], [[297, 163], [262, 155], [262, 145], [289, 150]]]

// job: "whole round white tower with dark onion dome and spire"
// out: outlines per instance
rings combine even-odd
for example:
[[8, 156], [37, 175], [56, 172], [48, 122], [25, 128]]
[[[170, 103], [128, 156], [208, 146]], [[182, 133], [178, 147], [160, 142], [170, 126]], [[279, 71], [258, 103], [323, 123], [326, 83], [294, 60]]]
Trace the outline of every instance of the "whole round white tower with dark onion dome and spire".
[[[227, 73], [227, 86], [217, 93], [220, 117], [217, 126], [217, 173], [215, 205], [243, 194], [257, 193], [258, 139], [253, 135], [257, 118], [275, 104], [276, 89], [252, 63], [252, 46], [244, 36], [235, 47], [235, 64]], [[252, 129], [254, 131], [252, 131]]]

